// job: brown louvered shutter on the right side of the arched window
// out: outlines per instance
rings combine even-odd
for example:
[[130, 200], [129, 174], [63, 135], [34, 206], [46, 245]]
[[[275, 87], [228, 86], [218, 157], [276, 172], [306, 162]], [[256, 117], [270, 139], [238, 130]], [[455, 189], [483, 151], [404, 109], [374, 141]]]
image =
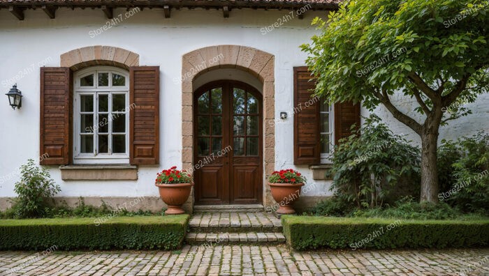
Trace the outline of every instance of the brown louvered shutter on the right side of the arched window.
[[130, 163], [159, 164], [159, 66], [131, 67], [130, 79]]

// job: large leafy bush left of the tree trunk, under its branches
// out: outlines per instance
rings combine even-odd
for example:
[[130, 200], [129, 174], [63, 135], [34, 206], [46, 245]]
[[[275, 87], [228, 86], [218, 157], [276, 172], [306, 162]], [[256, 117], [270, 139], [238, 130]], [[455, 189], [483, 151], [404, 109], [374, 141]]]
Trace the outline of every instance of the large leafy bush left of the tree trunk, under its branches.
[[406, 182], [407, 194], [418, 192], [419, 149], [402, 135], [394, 135], [373, 114], [362, 128], [340, 141], [332, 161], [331, 190], [358, 208], [382, 206], [391, 191], [401, 190], [401, 180]]

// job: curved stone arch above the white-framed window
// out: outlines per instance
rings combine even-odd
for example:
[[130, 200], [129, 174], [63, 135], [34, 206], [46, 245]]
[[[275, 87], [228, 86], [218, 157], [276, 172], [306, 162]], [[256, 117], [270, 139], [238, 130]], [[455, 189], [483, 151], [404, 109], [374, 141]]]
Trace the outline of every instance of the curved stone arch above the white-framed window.
[[61, 54], [60, 63], [61, 67], [68, 67], [72, 71], [89, 66], [116, 66], [129, 70], [131, 66], [139, 66], [139, 55], [118, 47], [98, 45]]

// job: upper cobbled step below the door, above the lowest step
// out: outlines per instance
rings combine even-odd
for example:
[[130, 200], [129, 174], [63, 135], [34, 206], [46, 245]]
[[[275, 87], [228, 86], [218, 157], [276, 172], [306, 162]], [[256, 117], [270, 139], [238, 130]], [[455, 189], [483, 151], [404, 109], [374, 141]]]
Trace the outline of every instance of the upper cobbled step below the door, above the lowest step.
[[194, 233], [275, 233], [282, 232], [282, 222], [271, 213], [194, 214], [189, 229]]

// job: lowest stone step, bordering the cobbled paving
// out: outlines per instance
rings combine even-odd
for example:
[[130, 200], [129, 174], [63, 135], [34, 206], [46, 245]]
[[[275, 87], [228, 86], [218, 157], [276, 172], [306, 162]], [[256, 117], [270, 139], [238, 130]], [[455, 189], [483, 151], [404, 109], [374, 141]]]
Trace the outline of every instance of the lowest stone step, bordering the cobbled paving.
[[282, 233], [187, 233], [185, 241], [190, 245], [223, 245], [223, 244], [270, 244], [284, 243]]

